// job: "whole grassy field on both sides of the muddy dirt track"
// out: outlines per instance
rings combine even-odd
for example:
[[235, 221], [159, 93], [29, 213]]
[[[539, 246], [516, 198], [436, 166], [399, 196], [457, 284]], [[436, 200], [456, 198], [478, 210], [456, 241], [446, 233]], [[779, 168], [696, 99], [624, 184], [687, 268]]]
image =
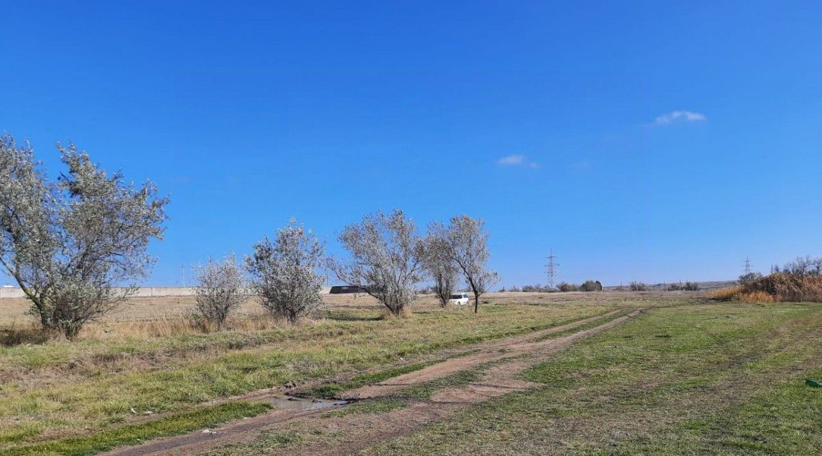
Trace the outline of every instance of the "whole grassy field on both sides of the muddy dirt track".
[[[441, 310], [425, 297], [412, 318], [384, 319], [367, 297], [328, 298], [326, 311], [294, 327], [262, 319], [248, 304], [234, 329], [219, 334], [159, 330], [179, 324], [187, 298], [176, 298], [177, 307], [135, 300], [77, 342], [2, 347], [0, 453], [93, 454], [194, 431], [265, 412], [237, 398], [256, 390], [293, 381], [303, 391], [334, 395], [484, 341], [640, 307], [648, 311], [520, 375], [542, 386], [462, 408], [364, 451], [822, 451], [822, 389], [804, 383], [822, 377], [820, 305], [715, 303], [680, 292], [496, 293], [478, 315]], [[6, 301], [0, 320], [20, 318]], [[379, 420], [424, 403], [437, 389], [474, 381], [488, 367], [356, 403], [328, 419]], [[352, 438], [293, 426], [215, 451], [294, 453], [300, 445]]]

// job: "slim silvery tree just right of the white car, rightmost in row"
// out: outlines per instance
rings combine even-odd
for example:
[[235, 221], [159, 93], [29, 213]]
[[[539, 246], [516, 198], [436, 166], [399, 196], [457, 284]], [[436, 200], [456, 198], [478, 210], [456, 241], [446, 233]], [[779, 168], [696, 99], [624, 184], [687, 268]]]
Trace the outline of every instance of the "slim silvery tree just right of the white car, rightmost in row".
[[473, 292], [473, 311], [477, 313], [479, 297], [499, 281], [496, 271], [487, 269], [489, 254], [485, 221], [459, 215], [451, 218], [448, 230], [449, 255]]

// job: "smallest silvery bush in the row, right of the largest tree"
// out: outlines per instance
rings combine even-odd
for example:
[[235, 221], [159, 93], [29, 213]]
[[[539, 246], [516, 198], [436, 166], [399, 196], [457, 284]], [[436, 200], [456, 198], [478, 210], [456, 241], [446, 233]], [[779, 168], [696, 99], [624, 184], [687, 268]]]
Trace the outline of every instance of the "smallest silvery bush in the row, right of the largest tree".
[[237, 257], [212, 260], [195, 269], [195, 315], [223, 329], [229, 314], [251, 296], [248, 281], [237, 265]]

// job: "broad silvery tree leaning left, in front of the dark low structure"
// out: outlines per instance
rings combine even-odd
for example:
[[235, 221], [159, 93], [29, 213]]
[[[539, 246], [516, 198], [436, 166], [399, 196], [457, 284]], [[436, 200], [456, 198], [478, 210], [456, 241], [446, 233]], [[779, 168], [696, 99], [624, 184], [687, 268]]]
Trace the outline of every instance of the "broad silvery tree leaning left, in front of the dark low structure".
[[413, 302], [425, 278], [424, 245], [403, 211], [367, 214], [362, 222], [345, 227], [339, 242], [351, 256], [347, 262], [330, 261], [340, 280], [363, 288], [395, 316]]

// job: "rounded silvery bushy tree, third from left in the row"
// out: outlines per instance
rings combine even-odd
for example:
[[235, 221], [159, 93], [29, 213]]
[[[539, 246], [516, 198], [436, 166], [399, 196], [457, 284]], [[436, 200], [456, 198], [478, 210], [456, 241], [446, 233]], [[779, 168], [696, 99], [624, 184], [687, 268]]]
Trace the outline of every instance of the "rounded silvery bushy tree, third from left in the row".
[[291, 219], [274, 242], [266, 237], [253, 248], [246, 269], [253, 277], [252, 288], [272, 316], [297, 323], [321, 306], [325, 278], [316, 270], [324, 263], [325, 245], [311, 231]]

